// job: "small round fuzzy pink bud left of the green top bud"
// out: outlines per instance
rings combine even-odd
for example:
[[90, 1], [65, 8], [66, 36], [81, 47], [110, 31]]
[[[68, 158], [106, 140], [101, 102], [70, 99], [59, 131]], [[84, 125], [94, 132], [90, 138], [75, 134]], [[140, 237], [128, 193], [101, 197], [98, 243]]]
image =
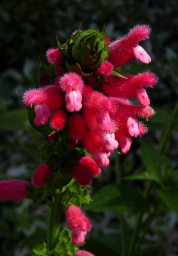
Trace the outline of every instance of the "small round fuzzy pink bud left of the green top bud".
[[50, 48], [46, 52], [47, 62], [52, 65], [61, 65], [64, 61], [64, 55], [58, 48]]

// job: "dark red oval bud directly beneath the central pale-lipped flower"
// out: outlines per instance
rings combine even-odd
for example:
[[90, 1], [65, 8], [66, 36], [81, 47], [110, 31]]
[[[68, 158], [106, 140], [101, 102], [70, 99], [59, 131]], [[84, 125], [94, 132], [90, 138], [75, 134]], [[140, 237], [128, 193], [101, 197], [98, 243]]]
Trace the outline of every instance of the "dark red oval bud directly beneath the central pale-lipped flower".
[[84, 138], [86, 128], [81, 114], [74, 113], [69, 117], [69, 130], [73, 141], [78, 142]]

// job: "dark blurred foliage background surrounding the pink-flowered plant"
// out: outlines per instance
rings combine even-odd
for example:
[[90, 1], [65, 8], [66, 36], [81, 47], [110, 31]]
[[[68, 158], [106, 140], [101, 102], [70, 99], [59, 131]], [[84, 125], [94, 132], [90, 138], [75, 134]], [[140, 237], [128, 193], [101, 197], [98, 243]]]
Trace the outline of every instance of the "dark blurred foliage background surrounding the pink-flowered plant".
[[[39, 86], [39, 57], [42, 64], [47, 67], [45, 53], [48, 48], [56, 47], [56, 36], [61, 43], [65, 43], [71, 33], [78, 29], [80, 23], [82, 30], [100, 29], [100, 31], [105, 23], [107, 36], [112, 39], [128, 33], [136, 24], [150, 24], [152, 29], [150, 40], [142, 43], [142, 46], [151, 55], [151, 64], [146, 65], [134, 60], [120, 70], [123, 73], [138, 73], [146, 69], [159, 77], [158, 85], [154, 89], [147, 90], [151, 106], [155, 108], [157, 114], [148, 121], [149, 133], [142, 138], [157, 149], [164, 129], [173, 117], [172, 110], [177, 101], [177, 13], [177, 0], [2, 0], [0, 5], [1, 180], [11, 178], [30, 180], [33, 171], [39, 166], [41, 162], [40, 152], [37, 151], [39, 133], [28, 124], [27, 110], [24, 109], [18, 95], [22, 96], [24, 90]], [[144, 163], [142, 161], [139, 141], [136, 139], [133, 141], [128, 154], [119, 157], [123, 176], [131, 174], [138, 176], [145, 171], [144, 164], [148, 168], [149, 161], [145, 160]], [[167, 158], [165, 160], [174, 170], [178, 168], [177, 141], [176, 120], [174, 132], [166, 148], [169, 160]], [[110, 161], [110, 166], [94, 180], [91, 196], [103, 186], [111, 186], [115, 183], [114, 154], [110, 157]], [[158, 175], [162, 174], [158, 173]], [[136, 179], [134, 182], [126, 180], [125, 183], [128, 186], [131, 184], [135, 186], [136, 191], [142, 191], [143, 184], [145, 185], [147, 181]], [[163, 208], [167, 210], [166, 201], [167, 198], [172, 197], [171, 191], [166, 193], [160, 190], [159, 182], [154, 186], [158, 193], [152, 193], [151, 204], [154, 204], [160, 194], [165, 202]], [[175, 205], [177, 198], [174, 193], [173, 195], [175, 198], [170, 208], [176, 209], [177, 212]], [[26, 199], [19, 202], [1, 202], [0, 207], [1, 255], [27, 256], [36, 238], [46, 241], [48, 209], [45, 205], [39, 206]], [[93, 222], [93, 231], [87, 236], [85, 249], [97, 256], [117, 255], [120, 248], [117, 242], [120, 234], [117, 214], [103, 211], [103, 213], [88, 212], [88, 215]], [[124, 216], [127, 227], [126, 239], [129, 243], [136, 215], [128, 211]], [[147, 217], [145, 213], [144, 218]], [[62, 226], [65, 226], [64, 216]], [[140, 255], [177, 255], [177, 233], [177, 214], [172, 211], [163, 212], [152, 222]]]

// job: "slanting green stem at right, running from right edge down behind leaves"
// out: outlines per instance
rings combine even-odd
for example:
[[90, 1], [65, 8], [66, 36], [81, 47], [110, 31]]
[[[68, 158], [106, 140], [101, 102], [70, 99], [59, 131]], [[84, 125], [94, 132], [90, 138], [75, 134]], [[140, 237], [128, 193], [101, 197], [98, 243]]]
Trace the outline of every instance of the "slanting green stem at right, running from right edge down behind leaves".
[[[173, 111], [173, 118], [172, 118], [171, 122], [169, 123], [169, 125], [167, 126], [167, 129], [166, 129], [166, 131], [163, 135], [163, 139], [160, 143], [159, 151], [161, 153], [165, 152], [166, 144], [167, 144], [167, 141], [169, 140], [169, 137], [171, 135], [171, 131], [173, 130], [177, 115], [178, 115], [178, 100], [177, 100], [177, 103], [176, 103], [176, 107], [174, 108], [174, 111]], [[149, 180], [149, 182], [147, 183], [147, 186], [145, 188], [145, 192], [144, 192], [145, 198], [148, 198], [150, 196], [152, 184], [153, 184], [152, 180]], [[138, 233], [139, 233], [139, 229], [140, 229], [140, 226], [141, 226], [141, 221], [142, 221], [143, 214], [144, 214], [143, 212], [139, 212], [138, 216], [136, 218], [135, 229], [134, 229], [134, 233], [133, 233], [132, 238], [131, 238], [131, 243], [130, 243], [130, 246], [129, 246], [128, 256], [132, 256], [132, 255], [136, 256], [138, 254], [138, 249], [140, 248], [140, 246], [142, 244], [142, 241], [144, 240], [145, 233], [147, 232], [148, 227], [150, 226], [151, 222], [149, 223], [149, 221], [148, 221], [149, 225], [147, 224], [147, 226], [145, 227], [144, 233], [143, 233], [143, 238], [140, 242], [139, 248], [135, 252], [136, 240], [138, 239]]]

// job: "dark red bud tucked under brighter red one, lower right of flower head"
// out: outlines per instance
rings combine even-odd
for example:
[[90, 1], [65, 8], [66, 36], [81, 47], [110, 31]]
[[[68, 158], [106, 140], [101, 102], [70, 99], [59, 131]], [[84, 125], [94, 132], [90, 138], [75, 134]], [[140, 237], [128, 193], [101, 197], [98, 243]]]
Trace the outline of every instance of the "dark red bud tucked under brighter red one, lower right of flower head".
[[88, 173], [87, 170], [85, 170], [85, 168], [81, 167], [81, 166], [74, 166], [72, 167], [71, 171], [71, 176], [77, 180], [77, 182], [81, 185], [81, 186], [87, 186], [90, 185], [92, 182], [91, 176]]

